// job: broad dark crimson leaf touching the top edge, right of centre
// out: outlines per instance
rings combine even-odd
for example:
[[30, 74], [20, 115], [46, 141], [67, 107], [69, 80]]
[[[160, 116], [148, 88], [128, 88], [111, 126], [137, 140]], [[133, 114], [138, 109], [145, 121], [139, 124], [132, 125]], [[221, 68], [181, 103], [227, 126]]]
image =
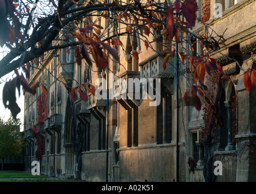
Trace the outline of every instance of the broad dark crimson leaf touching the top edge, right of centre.
[[185, 0], [185, 2], [181, 3], [181, 7], [183, 10], [185, 19], [187, 19], [187, 22], [189, 23], [190, 27], [194, 27], [195, 21], [196, 21], [196, 10], [198, 9], [196, 1]]

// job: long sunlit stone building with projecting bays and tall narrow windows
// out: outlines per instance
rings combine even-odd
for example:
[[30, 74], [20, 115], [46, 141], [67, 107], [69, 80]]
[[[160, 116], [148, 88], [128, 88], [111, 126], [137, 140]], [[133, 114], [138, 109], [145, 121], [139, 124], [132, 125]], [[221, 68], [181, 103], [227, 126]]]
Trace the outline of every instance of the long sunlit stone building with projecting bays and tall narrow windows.
[[[223, 84], [220, 102], [225, 119], [224, 127], [218, 130], [214, 154], [216, 160], [223, 162], [223, 175], [216, 181], [255, 181], [255, 87], [250, 94], [247, 92], [243, 84], [244, 72], [237, 62], [243, 69], [255, 65], [252, 53], [256, 52], [256, 1], [220, 1], [220, 18], [215, 15], [215, 3], [210, 1], [207, 23], [219, 34], [227, 28], [224, 33], [226, 47], [219, 50], [224, 55], [219, 52], [210, 55], [220, 63], [224, 73], [232, 76], [230, 82]], [[202, 2], [198, 5], [198, 16], [201, 16]], [[99, 25], [107, 25], [104, 18], [94, 19]], [[83, 25], [82, 22], [81, 27]], [[196, 23], [193, 33], [203, 34], [204, 27]], [[156, 32], [156, 38], [162, 39], [162, 36], [162, 32]], [[139, 33], [122, 36], [120, 41], [125, 46], [125, 52], [118, 48], [121, 65], [109, 59], [108, 71], [100, 71], [95, 64], [90, 67], [85, 61], [78, 66], [72, 48], [52, 50], [46, 53], [43, 61], [33, 62], [29, 84], [44, 82], [47, 110], [44, 122], [38, 123], [38, 97], [44, 96], [42, 87], [36, 88], [35, 95], [25, 93], [26, 171], [30, 172], [31, 162], [36, 160], [39, 141], [32, 135], [32, 129], [38, 124], [36, 137], [42, 139], [40, 161], [41, 173], [45, 175], [74, 176], [86, 181], [204, 181], [204, 147], [199, 145], [202, 110], [198, 112], [191, 99], [186, 104], [182, 101], [189, 87], [184, 75], [192, 77], [191, 73], [181, 65], [177, 110], [176, 58], [170, 58], [164, 70], [163, 57], [142, 46]], [[204, 52], [199, 42], [194, 43], [198, 54]], [[53, 44], [62, 42], [54, 41]], [[156, 43], [154, 49], [161, 48]], [[134, 51], [139, 53], [139, 61], [131, 57]], [[110, 94], [109, 99], [97, 99], [88, 93], [85, 102], [77, 93], [73, 101], [65, 87], [74, 88], [84, 82], [97, 85], [95, 81], [101, 78], [108, 80], [109, 92], [103, 90], [103, 93]], [[142, 89], [147, 87], [143, 98], [129, 98], [127, 90], [133, 87], [130, 82], [127, 82], [127, 90], [119, 91], [122, 81], [129, 78], [141, 81], [136, 91], [140, 96]], [[159, 105], [151, 105], [156, 102], [156, 96], [150, 96], [149, 91], [156, 88], [157, 78], [161, 78]], [[122, 98], [111, 98], [111, 93]], [[238, 100], [238, 133], [234, 138], [231, 132], [233, 96]], [[195, 173], [189, 172], [189, 157], [198, 163]]]

